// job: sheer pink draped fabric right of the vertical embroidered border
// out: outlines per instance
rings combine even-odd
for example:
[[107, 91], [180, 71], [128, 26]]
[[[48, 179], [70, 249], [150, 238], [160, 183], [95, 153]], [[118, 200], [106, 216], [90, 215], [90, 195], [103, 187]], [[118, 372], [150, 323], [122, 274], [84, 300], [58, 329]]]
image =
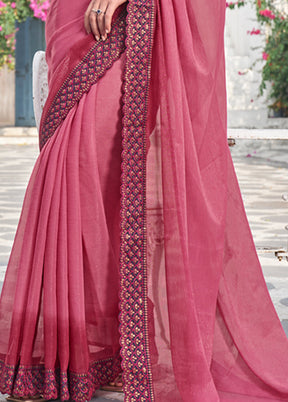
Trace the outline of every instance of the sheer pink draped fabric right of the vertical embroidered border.
[[148, 157], [156, 400], [288, 400], [288, 343], [227, 146], [225, 2], [158, 1], [157, 18]]

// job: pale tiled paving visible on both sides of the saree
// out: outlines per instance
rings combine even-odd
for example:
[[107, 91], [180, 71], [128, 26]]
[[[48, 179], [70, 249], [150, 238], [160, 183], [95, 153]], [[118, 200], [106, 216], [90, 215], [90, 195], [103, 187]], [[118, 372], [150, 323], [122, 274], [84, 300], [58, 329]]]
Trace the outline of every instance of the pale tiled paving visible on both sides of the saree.
[[[38, 155], [37, 144], [18, 143], [0, 146], [0, 287]], [[232, 156], [267, 286], [288, 335], [288, 262], [271, 251], [288, 247], [288, 142], [238, 141]], [[99, 392], [94, 399], [107, 400], [123, 400], [123, 395]]]

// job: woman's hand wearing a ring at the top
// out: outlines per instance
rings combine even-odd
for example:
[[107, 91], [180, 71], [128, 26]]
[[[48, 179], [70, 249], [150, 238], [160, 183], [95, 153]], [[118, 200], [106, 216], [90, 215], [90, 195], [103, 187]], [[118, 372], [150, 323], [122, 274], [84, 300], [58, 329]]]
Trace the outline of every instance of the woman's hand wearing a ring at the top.
[[[127, 0], [92, 0], [86, 10], [84, 25], [86, 32], [93, 33], [96, 40], [105, 40], [111, 31], [115, 10]], [[98, 10], [98, 13], [97, 13]], [[100, 11], [101, 12], [100, 12]]]

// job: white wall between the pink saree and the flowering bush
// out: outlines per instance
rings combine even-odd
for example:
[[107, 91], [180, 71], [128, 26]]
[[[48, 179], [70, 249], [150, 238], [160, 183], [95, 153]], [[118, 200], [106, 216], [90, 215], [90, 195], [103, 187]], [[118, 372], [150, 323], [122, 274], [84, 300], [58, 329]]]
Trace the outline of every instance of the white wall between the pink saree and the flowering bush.
[[[269, 118], [267, 95], [260, 96], [262, 51], [265, 35], [249, 35], [261, 29], [252, 5], [227, 9], [225, 48], [228, 127], [288, 128], [288, 119]], [[241, 75], [239, 74], [241, 73]]]

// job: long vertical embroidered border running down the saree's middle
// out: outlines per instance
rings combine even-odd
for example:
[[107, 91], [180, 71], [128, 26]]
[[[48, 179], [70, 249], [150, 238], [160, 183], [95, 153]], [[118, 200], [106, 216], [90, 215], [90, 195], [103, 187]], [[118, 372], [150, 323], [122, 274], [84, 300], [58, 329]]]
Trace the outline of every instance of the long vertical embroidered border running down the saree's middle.
[[120, 343], [125, 401], [153, 401], [146, 267], [146, 118], [153, 0], [130, 0], [123, 95]]

